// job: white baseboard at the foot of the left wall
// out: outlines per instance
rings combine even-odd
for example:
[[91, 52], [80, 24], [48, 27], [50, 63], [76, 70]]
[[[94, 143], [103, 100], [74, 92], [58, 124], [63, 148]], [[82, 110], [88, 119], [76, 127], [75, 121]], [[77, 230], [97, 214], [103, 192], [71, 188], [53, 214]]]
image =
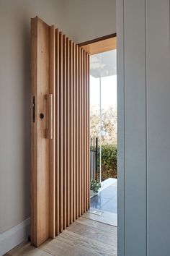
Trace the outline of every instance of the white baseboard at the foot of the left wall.
[[22, 243], [30, 235], [30, 218], [0, 234], [0, 256]]

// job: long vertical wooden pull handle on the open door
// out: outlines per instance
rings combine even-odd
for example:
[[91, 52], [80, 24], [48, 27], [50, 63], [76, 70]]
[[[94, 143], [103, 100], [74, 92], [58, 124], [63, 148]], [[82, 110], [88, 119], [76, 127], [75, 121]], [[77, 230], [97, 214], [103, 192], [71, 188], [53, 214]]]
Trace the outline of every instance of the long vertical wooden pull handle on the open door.
[[45, 138], [53, 139], [53, 94], [45, 95], [47, 101]]

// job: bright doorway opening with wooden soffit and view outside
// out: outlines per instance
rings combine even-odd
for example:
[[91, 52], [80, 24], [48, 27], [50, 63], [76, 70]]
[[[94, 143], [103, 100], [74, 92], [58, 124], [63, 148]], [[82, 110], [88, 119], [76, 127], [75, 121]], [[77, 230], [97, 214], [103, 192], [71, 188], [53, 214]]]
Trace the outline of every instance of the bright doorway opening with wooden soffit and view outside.
[[117, 226], [116, 36], [98, 40], [83, 46], [90, 54], [90, 208], [86, 215]]

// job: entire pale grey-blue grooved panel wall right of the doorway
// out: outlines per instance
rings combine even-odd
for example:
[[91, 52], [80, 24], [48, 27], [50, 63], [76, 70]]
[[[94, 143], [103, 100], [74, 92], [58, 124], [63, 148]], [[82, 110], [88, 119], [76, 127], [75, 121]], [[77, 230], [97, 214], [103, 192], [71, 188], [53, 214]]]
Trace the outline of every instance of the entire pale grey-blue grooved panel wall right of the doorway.
[[170, 252], [169, 1], [117, 0], [118, 256]]

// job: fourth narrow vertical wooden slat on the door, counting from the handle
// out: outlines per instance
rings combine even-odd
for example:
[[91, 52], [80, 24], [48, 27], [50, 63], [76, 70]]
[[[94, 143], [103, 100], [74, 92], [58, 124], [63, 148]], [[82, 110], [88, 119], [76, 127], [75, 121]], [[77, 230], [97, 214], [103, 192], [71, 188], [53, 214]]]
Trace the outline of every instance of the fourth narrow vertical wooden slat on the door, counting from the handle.
[[67, 149], [67, 190], [66, 190], [66, 196], [67, 196], [67, 202], [66, 202], [66, 225], [70, 225], [70, 43], [69, 39], [66, 38], [66, 133], [67, 133], [67, 143], [66, 143], [66, 149]]

